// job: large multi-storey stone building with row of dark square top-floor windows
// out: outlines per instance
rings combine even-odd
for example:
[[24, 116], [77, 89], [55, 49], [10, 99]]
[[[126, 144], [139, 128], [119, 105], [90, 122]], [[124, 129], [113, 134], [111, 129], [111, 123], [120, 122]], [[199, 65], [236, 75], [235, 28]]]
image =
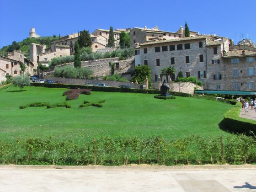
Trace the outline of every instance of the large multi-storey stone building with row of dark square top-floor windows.
[[182, 71], [185, 77], [195, 76], [203, 81], [204, 89], [224, 90], [222, 56], [230, 46], [232, 42], [228, 38], [212, 35], [149, 41], [135, 49], [135, 66], [150, 67], [155, 88], [158, 88], [161, 69], [171, 65], [176, 69], [171, 80]]

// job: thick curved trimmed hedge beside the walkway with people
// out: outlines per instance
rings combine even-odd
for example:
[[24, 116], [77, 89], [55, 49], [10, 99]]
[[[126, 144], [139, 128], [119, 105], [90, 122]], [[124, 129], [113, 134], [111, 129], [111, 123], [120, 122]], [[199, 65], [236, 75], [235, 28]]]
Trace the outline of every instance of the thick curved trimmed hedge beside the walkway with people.
[[241, 103], [237, 102], [235, 107], [224, 113], [223, 123], [226, 128], [235, 133], [256, 134], [256, 121], [239, 117]]

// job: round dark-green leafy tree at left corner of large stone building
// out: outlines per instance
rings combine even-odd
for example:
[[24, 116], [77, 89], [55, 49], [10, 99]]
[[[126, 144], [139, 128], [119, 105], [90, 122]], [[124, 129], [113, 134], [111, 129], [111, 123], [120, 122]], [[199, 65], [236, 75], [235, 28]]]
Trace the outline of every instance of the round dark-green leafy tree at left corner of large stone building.
[[133, 69], [133, 77], [131, 78], [131, 81], [135, 82], [136, 80], [138, 83], [143, 83], [146, 77], [149, 79], [149, 87], [152, 87], [152, 81], [151, 81], [151, 76], [150, 76], [150, 67], [147, 65], [141, 65], [141, 66], [136, 66]]

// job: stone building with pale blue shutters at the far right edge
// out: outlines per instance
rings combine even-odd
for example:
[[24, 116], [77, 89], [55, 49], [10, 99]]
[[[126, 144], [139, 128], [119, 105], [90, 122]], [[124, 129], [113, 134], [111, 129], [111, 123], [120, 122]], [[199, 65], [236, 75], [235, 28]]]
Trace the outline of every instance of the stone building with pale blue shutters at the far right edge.
[[256, 51], [230, 50], [221, 59], [224, 63], [224, 90], [256, 90]]

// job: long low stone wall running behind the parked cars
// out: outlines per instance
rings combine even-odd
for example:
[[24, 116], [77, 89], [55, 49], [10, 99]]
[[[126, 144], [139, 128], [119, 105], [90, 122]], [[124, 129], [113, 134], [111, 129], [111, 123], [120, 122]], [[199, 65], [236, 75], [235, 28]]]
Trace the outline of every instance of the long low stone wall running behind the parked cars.
[[105, 83], [112, 87], [118, 87], [119, 85], [127, 85], [129, 88], [134, 88], [135, 85], [132, 82], [121, 82], [121, 81], [111, 81], [111, 80], [84, 80], [84, 79], [70, 79], [62, 77], [53, 77], [49, 75], [44, 75], [44, 79], [50, 79], [54, 82], [59, 80], [64, 84], [74, 84], [74, 85], [85, 85], [85, 84], [99, 84]]

